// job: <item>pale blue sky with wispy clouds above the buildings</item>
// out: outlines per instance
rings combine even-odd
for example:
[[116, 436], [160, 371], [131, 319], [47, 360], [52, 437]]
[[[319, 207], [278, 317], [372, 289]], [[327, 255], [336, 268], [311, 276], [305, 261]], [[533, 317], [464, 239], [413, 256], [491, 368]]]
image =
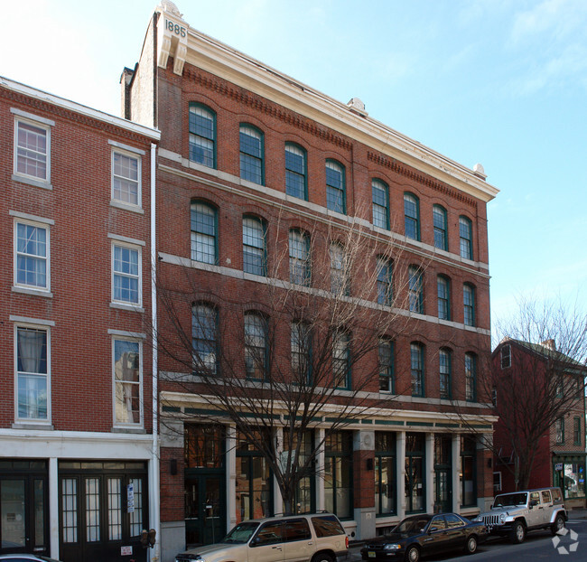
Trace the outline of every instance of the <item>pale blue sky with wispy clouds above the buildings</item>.
[[[0, 75], [118, 115], [156, 0], [21, 0]], [[185, 0], [187, 23], [470, 168], [489, 203], [493, 320], [587, 302], [587, 2]], [[10, 53], [10, 54], [9, 54]]]

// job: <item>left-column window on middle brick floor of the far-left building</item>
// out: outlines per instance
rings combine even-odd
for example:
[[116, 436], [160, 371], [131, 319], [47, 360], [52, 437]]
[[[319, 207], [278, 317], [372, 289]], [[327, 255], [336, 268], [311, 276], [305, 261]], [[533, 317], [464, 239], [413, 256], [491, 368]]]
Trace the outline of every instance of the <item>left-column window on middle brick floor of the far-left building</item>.
[[49, 291], [51, 288], [49, 225], [14, 220], [14, 286]]

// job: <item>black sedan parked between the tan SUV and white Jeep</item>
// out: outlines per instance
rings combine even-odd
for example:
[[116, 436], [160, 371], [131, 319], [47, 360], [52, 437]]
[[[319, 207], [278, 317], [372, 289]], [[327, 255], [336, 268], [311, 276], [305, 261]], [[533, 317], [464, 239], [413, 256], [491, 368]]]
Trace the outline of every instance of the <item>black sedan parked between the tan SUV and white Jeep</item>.
[[388, 535], [368, 540], [361, 548], [363, 560], [405, 560], [450, 550], [473, 554], [477, 545], [488, 538], [483, 523], [476, 523], [456, 513], [414, 515], [403, 520]]

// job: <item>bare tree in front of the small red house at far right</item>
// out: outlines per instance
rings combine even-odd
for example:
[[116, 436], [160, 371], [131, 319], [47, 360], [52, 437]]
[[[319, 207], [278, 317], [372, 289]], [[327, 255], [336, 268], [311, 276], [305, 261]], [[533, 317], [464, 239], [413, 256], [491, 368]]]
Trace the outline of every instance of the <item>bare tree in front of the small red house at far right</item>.
[[490, 448], [512, 454], [520, 489], [528, 486], [539, 441], [557, 419], [579, 407], [587, 367], [587, 315], [578, 305], [560, 300], [539, 303], [522, 299], [506, 322], [498, 323], [499, 344], [480, 385], [493, 398], [499, 420]]

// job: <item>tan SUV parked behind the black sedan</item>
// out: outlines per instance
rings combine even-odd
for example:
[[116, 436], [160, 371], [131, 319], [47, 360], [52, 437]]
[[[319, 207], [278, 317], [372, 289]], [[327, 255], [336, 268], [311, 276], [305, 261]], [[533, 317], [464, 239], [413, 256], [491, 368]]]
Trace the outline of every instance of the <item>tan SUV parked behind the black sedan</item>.
[[312, 513], [238, 523], [219, 543], [191, 548], [175, 562], [340, 562], [349, 538], [331, 513]]

